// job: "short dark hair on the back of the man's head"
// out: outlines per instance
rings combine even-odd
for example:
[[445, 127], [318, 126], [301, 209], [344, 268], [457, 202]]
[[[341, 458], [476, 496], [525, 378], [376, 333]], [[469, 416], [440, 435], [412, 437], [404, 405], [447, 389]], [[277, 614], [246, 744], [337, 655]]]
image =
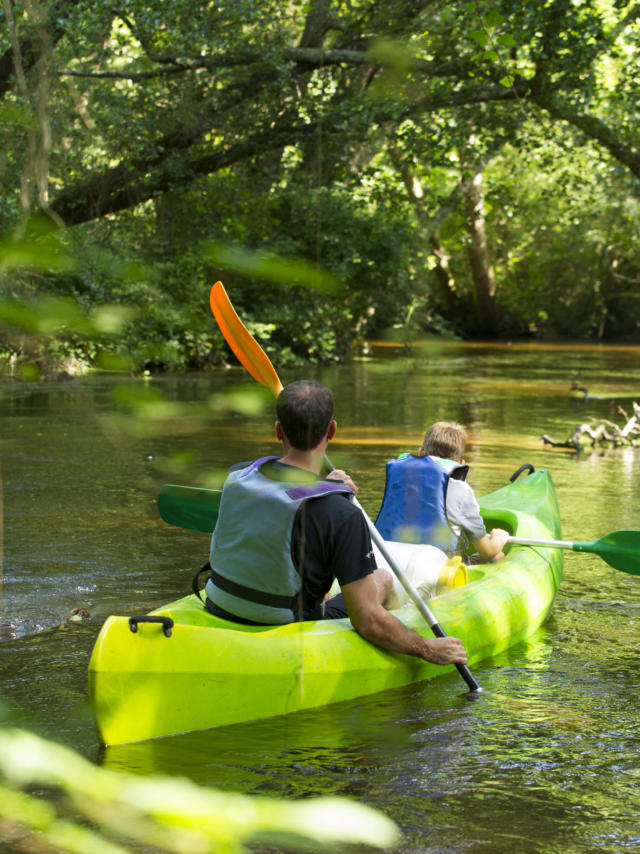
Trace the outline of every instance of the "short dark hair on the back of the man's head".
[[298, 451], [319, 444], [333, 418], [333, 395], [313, 380], [286, 385], [276, 402], [276, 414], [285, 436]]

